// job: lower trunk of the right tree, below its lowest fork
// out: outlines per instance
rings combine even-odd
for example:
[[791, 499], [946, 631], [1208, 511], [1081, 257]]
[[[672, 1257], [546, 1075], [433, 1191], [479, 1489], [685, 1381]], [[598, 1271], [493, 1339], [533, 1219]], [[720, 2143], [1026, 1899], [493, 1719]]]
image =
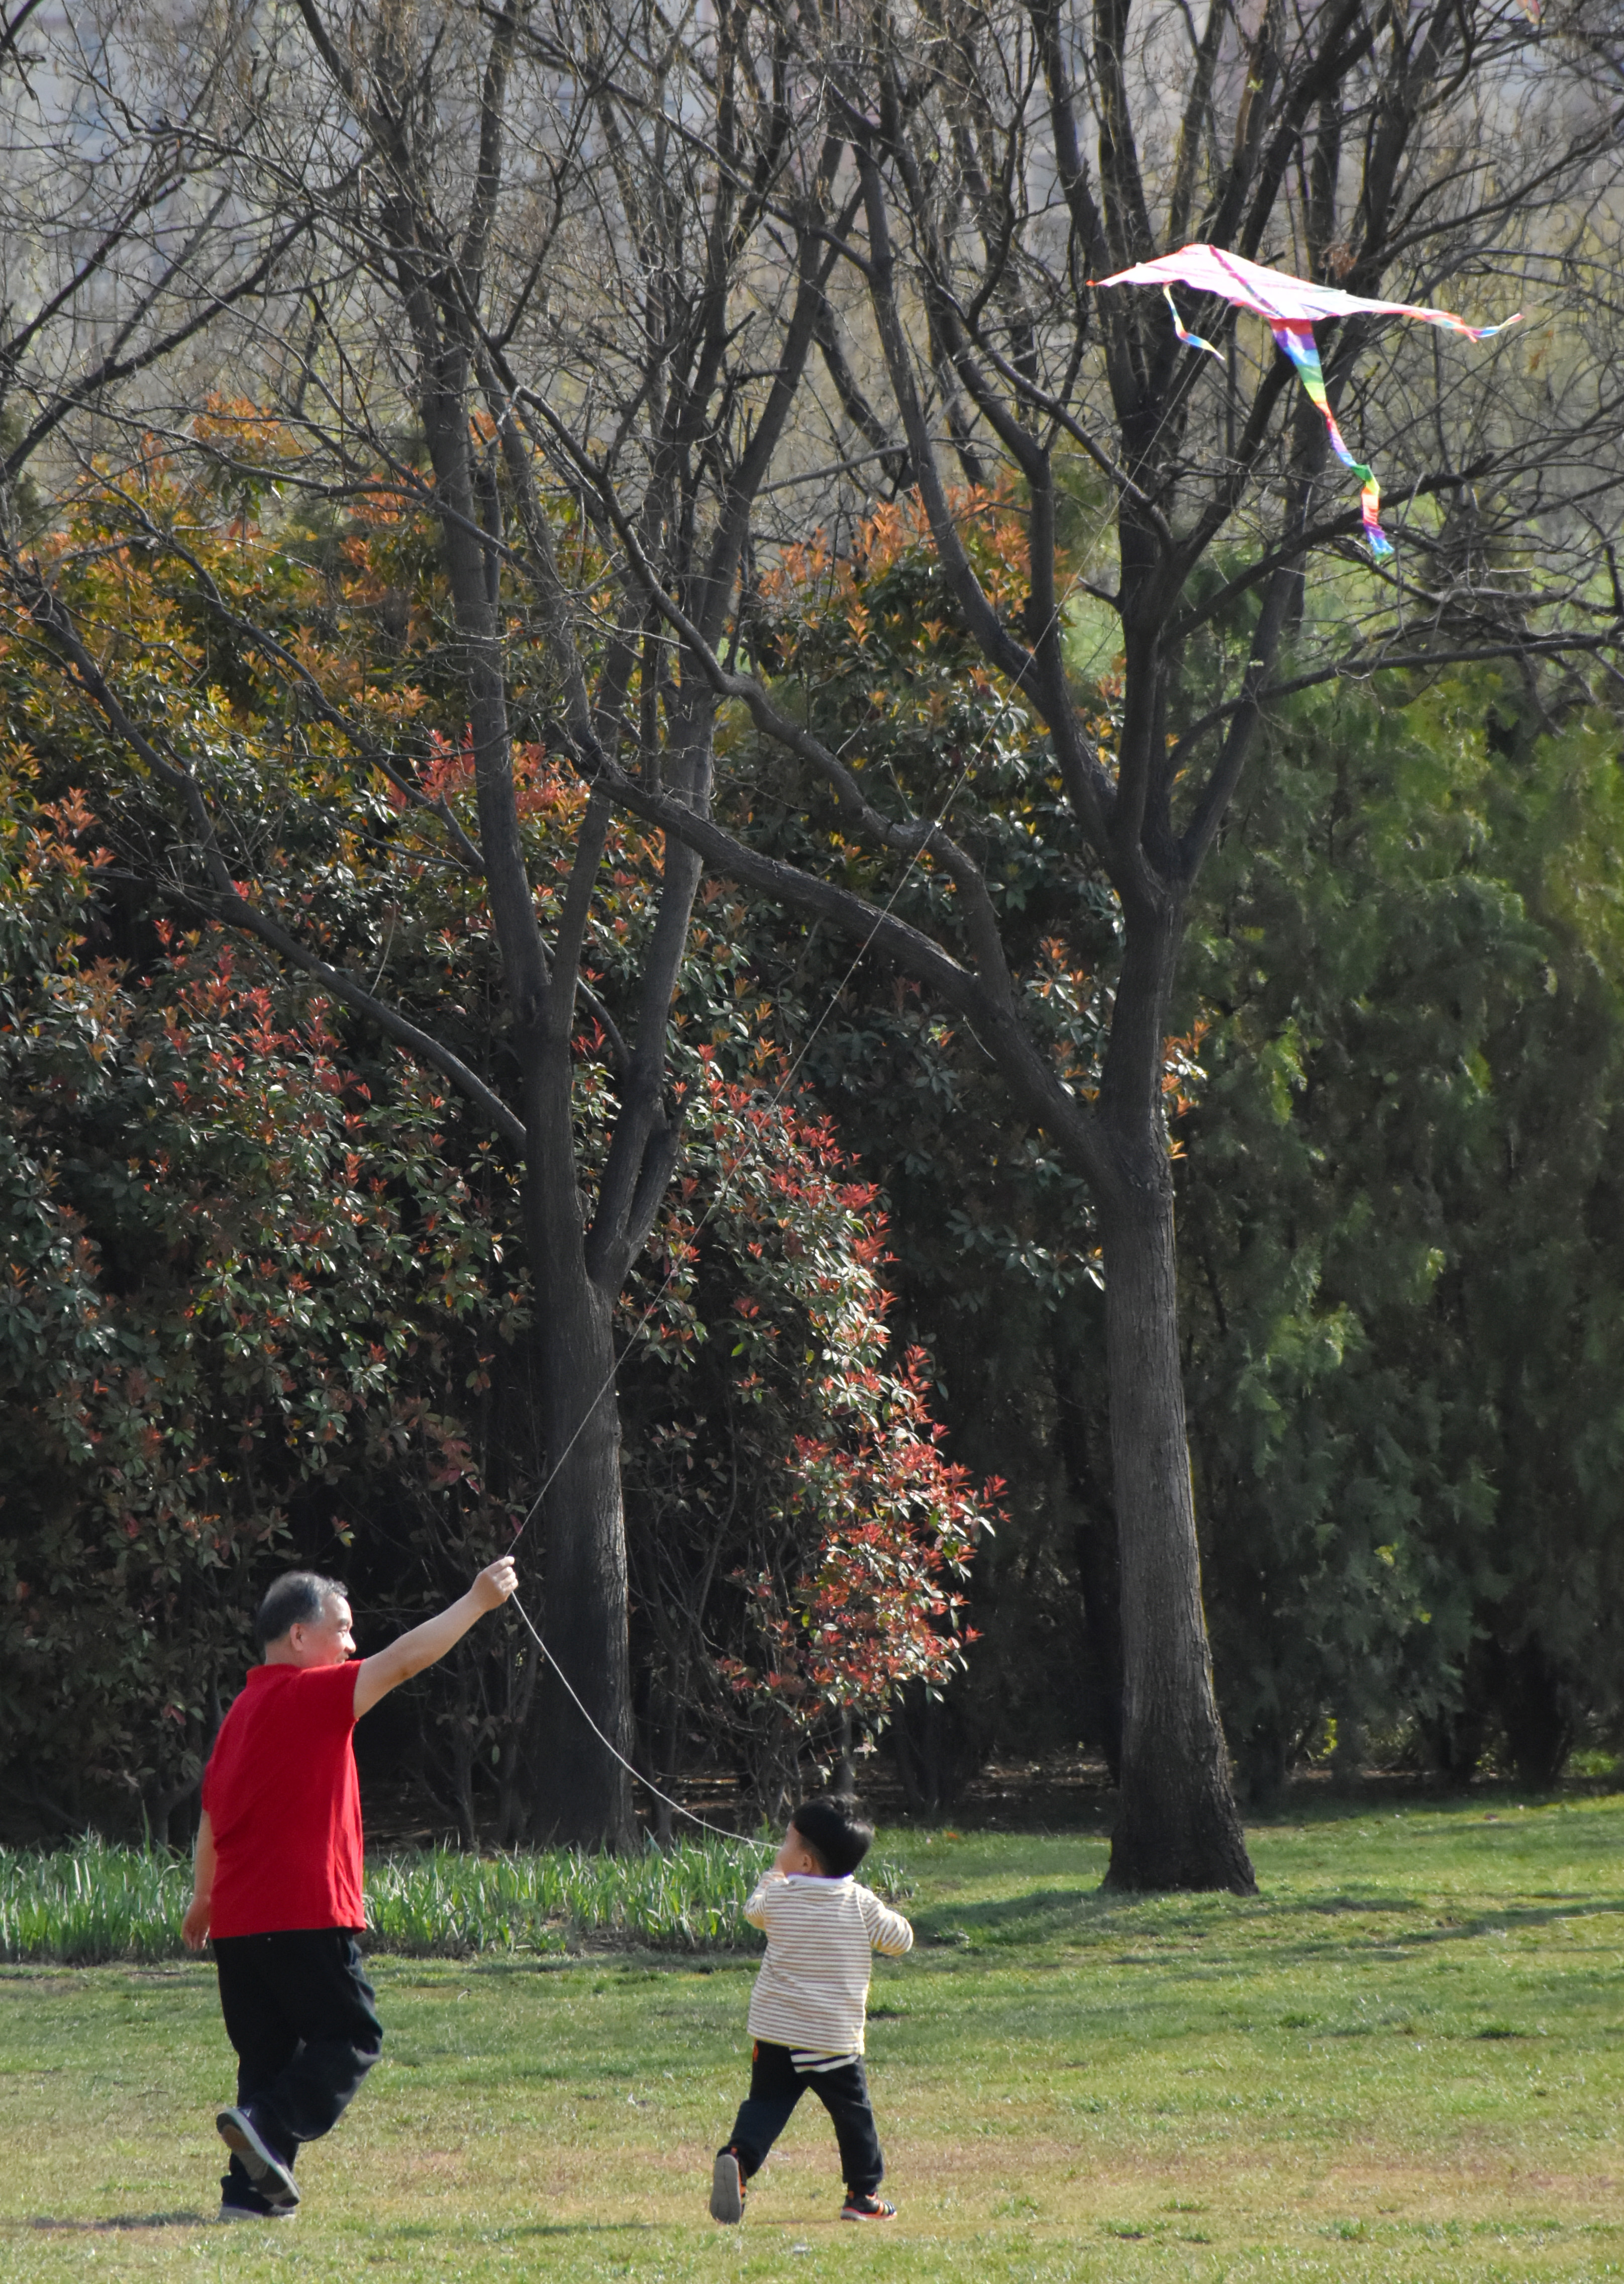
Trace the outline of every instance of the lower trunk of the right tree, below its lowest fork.
[[1121, 1816], [1106, 1884], [1256, 1893], [1201, 1613], [1165, 1156], [1103, 1215], [1121, 1546]]

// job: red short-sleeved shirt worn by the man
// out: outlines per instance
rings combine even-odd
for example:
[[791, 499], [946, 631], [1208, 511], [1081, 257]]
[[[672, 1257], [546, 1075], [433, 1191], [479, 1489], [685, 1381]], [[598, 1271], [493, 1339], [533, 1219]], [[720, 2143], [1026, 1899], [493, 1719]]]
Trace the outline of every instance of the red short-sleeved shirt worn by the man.
[[249, 1670], [203, 1772], [210, 1935], [365, 1925], [354, 1724], [354, 1665]]

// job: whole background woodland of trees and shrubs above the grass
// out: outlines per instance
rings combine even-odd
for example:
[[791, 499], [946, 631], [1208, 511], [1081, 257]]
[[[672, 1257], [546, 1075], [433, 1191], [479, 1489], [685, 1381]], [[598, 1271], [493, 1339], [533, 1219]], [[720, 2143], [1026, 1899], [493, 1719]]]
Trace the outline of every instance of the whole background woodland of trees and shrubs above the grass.
[[[1608, 11], [23, 5], [0, 73], [0, 1827], [183, 1841], [276, 1569], [365, 1649], [516, 1530], [742, 1820], [1117, 1775], [1144, 863], [1240, 1798], [1624, 1743]], [[1151, 203], [1528, 304], [1325, 349], [1400, 576], [1279, 359], [1085, 292]], [[624, 1843], [576, 1720], [482, 1628], [368, 1775]]]

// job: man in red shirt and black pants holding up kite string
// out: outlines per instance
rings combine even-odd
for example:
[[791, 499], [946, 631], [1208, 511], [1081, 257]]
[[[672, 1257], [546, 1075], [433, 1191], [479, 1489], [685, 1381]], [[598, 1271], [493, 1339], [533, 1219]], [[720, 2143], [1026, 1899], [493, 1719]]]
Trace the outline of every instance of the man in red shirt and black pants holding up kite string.
[[183, 1932], [215, 1941], [219, 2010], [238, 2049], [222, 2220], [288, 2218], [299, 2142], [329, 2133], [384, 2044], [361, 1971], [361, 1791], [354, 1724], [496, 1610], [518, 1583], [507, 1555], [461, 1601], [375, 1658], [349, 1663], [345, 1590], [279, 1578], [258, 1608], [249, 1670], [203, 1772], [194, 1893]]

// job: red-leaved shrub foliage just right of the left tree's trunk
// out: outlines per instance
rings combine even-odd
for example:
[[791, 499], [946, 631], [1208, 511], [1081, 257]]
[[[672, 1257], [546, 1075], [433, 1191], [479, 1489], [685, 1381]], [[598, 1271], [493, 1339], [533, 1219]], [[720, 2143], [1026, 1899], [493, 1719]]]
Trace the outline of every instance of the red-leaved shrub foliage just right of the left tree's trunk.
[[831, 1121], [799, 1094], [724, 1078], [708, 1046], [694, 1062], [690, 1151], [715, 1172], [685, 1183], [667, 1220], [672, 1281], [651, 1332], [667, 1354], [692, 1334], [701, 1254], [724, 1247], [742, 1284], [733, 1357], [756, 1416], [758, 1558], [733, 1571], [751, 1640], [715, 1663], [795, 1727], [836, 1706], [873, 1724], [902, 1683], [941, 1686], [962, 1665], [959, 1587], [1003, 1487], [975, 1489], [943, 1457], [927, 1354], [889, 1357], [879, 1192], [852, 1179]]

